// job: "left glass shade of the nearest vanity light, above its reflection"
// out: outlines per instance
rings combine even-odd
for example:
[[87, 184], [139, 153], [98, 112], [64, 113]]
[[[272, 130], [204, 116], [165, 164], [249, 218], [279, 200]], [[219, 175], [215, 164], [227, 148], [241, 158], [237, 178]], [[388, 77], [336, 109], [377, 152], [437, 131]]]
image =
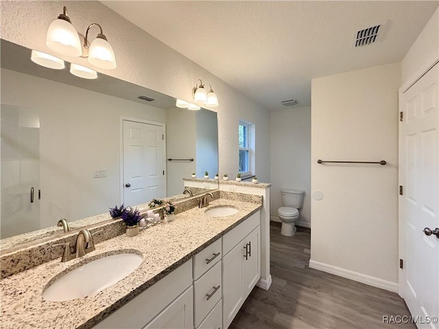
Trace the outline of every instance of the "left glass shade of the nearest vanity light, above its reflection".
[[46, 45], [64, 56], [79, 57], [82, 47], [78, 32], [71, 23], [64, 19], [56, 19], [47, 29]]

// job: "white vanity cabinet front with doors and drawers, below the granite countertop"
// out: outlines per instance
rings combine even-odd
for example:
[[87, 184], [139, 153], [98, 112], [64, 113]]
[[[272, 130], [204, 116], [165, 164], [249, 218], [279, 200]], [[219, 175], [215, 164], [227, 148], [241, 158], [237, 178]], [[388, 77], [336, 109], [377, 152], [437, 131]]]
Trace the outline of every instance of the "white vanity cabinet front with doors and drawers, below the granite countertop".
[[228, 328], [261, 277], [259, 223], [258, 211], [94, 328]]

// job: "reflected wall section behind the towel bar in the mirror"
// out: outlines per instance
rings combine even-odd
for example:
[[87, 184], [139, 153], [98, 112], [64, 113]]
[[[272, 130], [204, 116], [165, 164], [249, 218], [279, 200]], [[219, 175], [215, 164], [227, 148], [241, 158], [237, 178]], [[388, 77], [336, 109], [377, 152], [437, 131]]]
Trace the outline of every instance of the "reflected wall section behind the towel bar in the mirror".
[[[195, 131], [195, 111], [166, 110], [166, 158], [195, 158]], [[185, 189], [182, 178], [195, 172], [195, 161], [167, 161], [166, 169], [166, 193], [178, 195]]]

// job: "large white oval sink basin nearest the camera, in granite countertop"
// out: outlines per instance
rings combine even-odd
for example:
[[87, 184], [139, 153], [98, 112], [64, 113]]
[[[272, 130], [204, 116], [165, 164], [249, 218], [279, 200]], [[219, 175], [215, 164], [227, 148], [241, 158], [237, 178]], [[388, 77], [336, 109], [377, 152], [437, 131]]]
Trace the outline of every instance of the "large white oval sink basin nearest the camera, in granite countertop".
[[43, 291], [43, 299], [62, 302], [97, 293], [128, 276], [142, 261], [142, 256], [131, 253], [98, 258], [56, 279]]

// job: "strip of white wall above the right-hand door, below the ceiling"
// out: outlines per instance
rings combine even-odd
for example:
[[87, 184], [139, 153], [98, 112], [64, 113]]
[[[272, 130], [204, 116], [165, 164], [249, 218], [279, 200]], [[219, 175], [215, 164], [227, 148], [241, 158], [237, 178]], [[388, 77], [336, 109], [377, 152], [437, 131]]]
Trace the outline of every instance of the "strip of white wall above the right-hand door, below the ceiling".
[[[418, 38], [403, 58], [402, 82], [405, 84], [420, 69], [420, 65], [439, 58], [439, 8], [425, 25]], [[432, 64], [432, 63], [427, 63]]]

